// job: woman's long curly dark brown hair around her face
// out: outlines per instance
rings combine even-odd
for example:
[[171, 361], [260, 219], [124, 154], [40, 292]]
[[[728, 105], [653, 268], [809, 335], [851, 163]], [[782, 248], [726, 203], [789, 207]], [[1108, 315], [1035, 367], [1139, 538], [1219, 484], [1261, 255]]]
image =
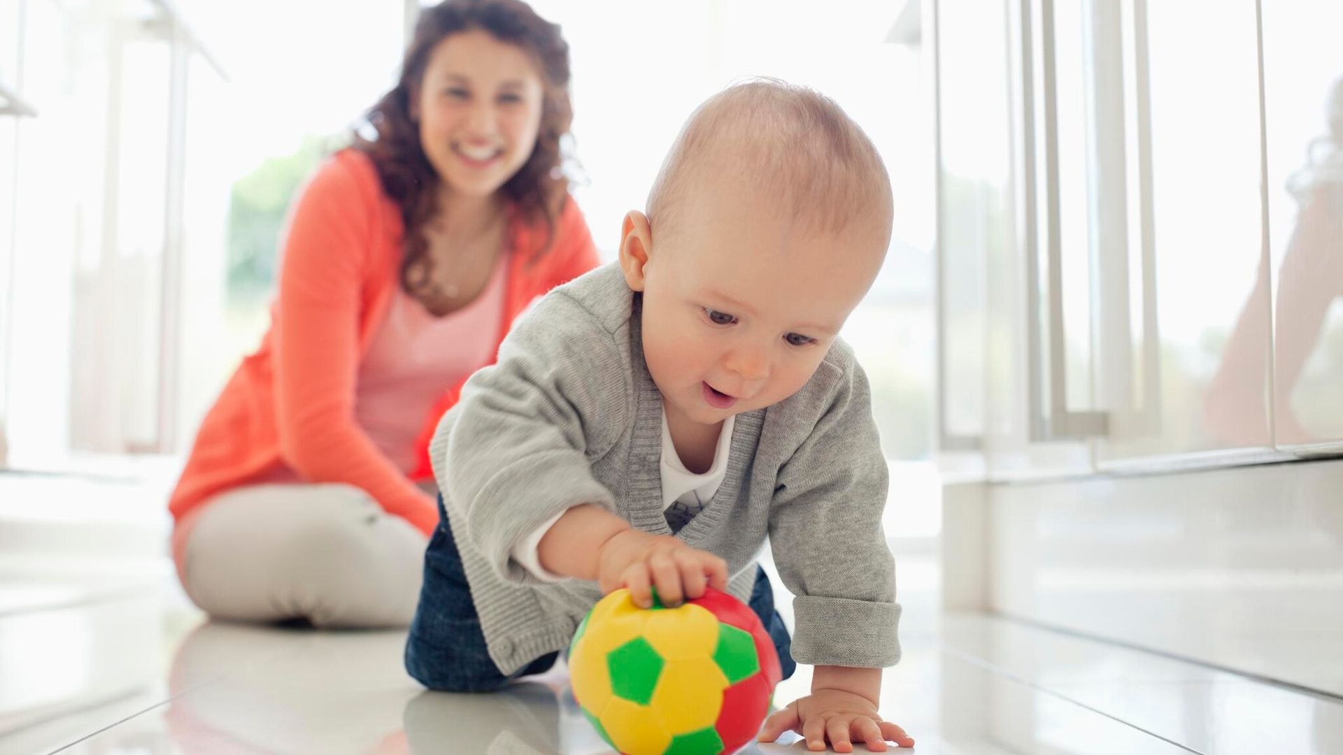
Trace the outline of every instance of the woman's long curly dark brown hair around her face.
[[560, 26], [536, 15], [521, 0], [445, 0], [420, 11], [415, 35], [402, 60], [396, 87], [368, 110], [368, 125], [376, 138], [355, 133], [353, 146], [372, 159], [383, 191], [402, 210], [402, 286], [416, 293], [412, 279], [427, 281], [432, 263], [426, 258], [428, 242], [420, 228], [436, 212], [434, 189], [439, 177], [419, 141], [419, 128], [411, 120], [411, 102], [419, 95], [430, 55], [443, 39], [463, 31], [482, 30], [500, 42], [516, 44], [537, 63], [541, 74], [541, 124], [536, 148], [502, 191], [525, 222], [544, 223], [547, 243], [536, 250], [544, 255], [555, 238], [555, 224], [568, 196], [561, 138], [573, 121], [569, 103], [569, 46]]

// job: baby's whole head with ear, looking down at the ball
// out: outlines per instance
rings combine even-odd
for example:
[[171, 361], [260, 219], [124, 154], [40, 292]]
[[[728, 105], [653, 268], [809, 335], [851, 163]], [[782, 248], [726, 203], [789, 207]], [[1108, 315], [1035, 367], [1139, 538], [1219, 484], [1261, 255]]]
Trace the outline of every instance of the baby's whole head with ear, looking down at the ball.
[[710, 425], [802, 388], [872, 286], [890, 219], [885, 165], [830, 98], [753, 81], [701, 105], [620, 239], [667, 414]]

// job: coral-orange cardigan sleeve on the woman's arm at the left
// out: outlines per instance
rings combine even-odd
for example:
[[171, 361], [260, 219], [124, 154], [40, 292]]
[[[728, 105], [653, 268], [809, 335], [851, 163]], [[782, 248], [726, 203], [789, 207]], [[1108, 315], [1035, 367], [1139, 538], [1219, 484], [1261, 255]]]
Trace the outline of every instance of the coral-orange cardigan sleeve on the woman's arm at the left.
[[289, 223], [275, 322], [281, 454], [313, 482], [346, 482], [424, 533], [436, 505], [355, 420], [359, 324], [376, 197], [341, 157], [328, 161]]

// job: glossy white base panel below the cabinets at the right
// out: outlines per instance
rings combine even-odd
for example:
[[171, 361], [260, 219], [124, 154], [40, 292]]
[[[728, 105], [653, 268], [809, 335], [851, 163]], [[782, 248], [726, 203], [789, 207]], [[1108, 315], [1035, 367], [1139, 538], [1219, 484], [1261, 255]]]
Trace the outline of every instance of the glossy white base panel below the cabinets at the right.
[[1343, 695], [1340, 492], [1343, 461], [992, 485], [987, 607]]

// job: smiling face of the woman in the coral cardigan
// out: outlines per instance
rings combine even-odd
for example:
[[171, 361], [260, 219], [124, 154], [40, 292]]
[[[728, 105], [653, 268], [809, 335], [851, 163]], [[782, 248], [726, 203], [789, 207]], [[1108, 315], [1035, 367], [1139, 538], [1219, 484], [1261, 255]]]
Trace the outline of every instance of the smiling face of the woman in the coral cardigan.
[[439, 42], [411, 106], [439, 179], [469, 196], [502, 187], [536, 146], [541, 93], [541, 77], [521, 47], [481, 30]]

